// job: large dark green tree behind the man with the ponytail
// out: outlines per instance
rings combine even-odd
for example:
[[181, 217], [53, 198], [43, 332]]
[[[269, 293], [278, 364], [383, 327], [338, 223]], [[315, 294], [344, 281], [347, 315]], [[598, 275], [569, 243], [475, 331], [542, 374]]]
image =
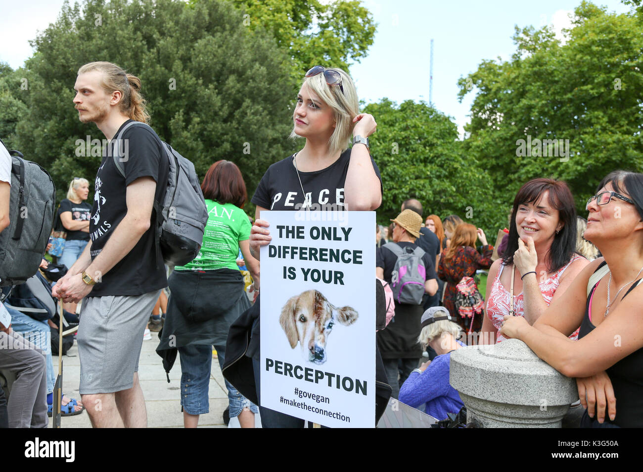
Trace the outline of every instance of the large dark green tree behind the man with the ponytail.
[[100, 157], [77, 155], [78, 139], [104, 135], [93, 123], [80, 123], [72, 103], [78, 67], [95, 60], [141, 78], [150, 124], [194, 162], [201, 178], [213, 162], [228, 159], [242, 170], [251, 195], [267, 166], [292, 150], [287, 57], [267, 33], [249, 35], [229, 2], [66, 3], [33, 46], [15, 147], [50, 170], [59, 198], [71, 177], [91, 181], [100, 164]]

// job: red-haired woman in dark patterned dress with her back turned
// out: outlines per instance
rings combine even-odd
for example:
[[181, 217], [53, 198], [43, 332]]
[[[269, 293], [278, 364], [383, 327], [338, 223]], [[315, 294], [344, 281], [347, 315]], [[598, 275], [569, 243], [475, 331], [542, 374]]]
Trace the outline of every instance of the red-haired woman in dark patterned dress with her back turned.
[[[476, 239], [482, 243], [482, 255], [476, 250]], [[456, 285], [462, 277], [473, 277], [476, 270], [489, 268], [493, 246], [487, 244], [487, 237], [482, 229], [469, 223], [460, 223], [455, 227], [449, 249], [442, 252], [438, 266], [438, 277], [448, 282], [443, 304], [449, 313], [457, 318], [458, 323], [465, 331], [479, 331], [482, 323], [480, 314], [473, 315], [471, 319], [460, 316], [455, 307], [455, 298], [458, 294]]]

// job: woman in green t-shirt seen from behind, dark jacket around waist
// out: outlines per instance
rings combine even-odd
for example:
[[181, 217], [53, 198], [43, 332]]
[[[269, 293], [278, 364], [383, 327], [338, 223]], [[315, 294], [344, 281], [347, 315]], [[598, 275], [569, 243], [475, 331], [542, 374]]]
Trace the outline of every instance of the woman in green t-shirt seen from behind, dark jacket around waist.
[[[239, 168], [230, 161], [215, 162], [201, 189], [208, 207], [203, 245], [194, 261], [175, 267], [168, 279], [172, 292], [156, 348], [167, 372], [176, 356], [170, 354], [172, 348], [178, 348], [186, 428], [195, 428], [199, 415], [208, 413], [212, 346], [217, 350], [219, 365], [223, 365], [230, 324], [250, 308], [236, 261], [239, 248], [255, 283], [259, 280], [259, 263], [251, 256], [248, 242], [250, 222], [242, 210], [247, 194]], [[226, 387], [230, 417], [238, 416], [242, 428], [254, 427], [257, 406], [228, 381]]]

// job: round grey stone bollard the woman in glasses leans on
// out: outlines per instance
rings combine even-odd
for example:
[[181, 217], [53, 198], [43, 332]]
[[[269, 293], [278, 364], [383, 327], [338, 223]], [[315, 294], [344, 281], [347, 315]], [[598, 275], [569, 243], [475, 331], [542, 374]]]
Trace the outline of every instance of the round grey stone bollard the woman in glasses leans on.
[[467, 423], [482, 428], [561, 428], [578, 399], [575, 380], [518, 339], [454, 351], [449, 380], [467, 407]]

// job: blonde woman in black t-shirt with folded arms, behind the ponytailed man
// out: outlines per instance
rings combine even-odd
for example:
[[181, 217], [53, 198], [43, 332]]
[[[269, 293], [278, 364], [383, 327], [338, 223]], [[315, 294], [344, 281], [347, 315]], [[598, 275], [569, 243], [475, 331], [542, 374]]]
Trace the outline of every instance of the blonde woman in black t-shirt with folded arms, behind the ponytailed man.
[[[89, 242], [91, 205], [85, 201], [87, 197], [89, 197], [89, 182], [82, 177], [74, 177], [69, 183], [67, 198], [60, 200], [58, 216], [67, 232], [67, 238], [58, 262], [66, 265], [67, 268], [74, 265]], [[70, 313], [76, 313], [75, 303], [63, 303], [62, 306]]]

